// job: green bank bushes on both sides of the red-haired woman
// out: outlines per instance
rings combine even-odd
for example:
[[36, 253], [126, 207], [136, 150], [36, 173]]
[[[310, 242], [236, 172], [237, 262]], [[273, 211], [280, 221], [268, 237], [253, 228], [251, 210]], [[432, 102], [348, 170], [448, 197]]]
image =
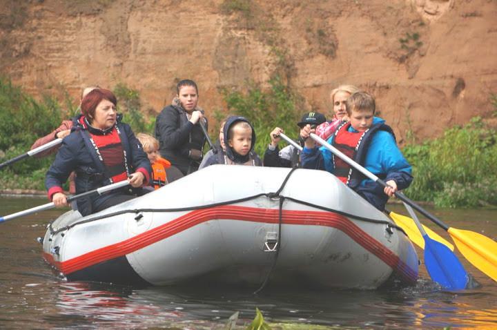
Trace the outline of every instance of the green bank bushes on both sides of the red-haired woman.
[[[118, 99], [119, 111], [124, 122], [130, 124], [135, 132], [153, 133], [155, 116], [147, 121], [141, 110], [142, 104], [137, 90], [124, 84], [117, 84], [114, 93]], [[0, 78], [0, 162], [29, 151], [39, 138], [59, 127], [62, 119], [75, 115], [76, 101], [66, 93], [62, 102], [54, 97], [43, 95], [41, 101], [12, 85], [10, 79]], [[44, 190], [45, 173], [52, 164], [54, 156], [29, 157], [0, 170], [0, 189]]]

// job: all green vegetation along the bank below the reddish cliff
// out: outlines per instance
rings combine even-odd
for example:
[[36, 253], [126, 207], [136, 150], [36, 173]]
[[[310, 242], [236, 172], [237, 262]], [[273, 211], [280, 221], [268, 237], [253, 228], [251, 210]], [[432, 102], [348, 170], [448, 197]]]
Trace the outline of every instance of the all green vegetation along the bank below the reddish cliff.
[[[137, 90], [117, 84], [114, 91], [125, 122], [135, 132], [153, 133], [155, 116], [148, 120], [143, 114]], [[271, 130], [279, 126], [289, 137], [298, 136], [296, 123], [307, 111], [302, 106], [302, 97], [277, 75], [269, 81], [269, 86], [252, 83], [244, 90], [224, 90], [223, 95], [228, 113], [242, 115], [252, 122], [257, 133], [255, 151], [261, 157], [271, 141]], [[497, 95], [491, 95], [489, 101], [497, 111]], [[63, 104], [62, 107], [47, 95], [37, 101], [8, 79], [0, 79], [0, 162], [26, 153], [37, 138], [57, 128], [61, 119], [70, 117], [76, 102], [66, 97]], [[215, 113], [218, 122], [224, 115], [220, 111]], [[217, 139], [218, 130], [215, 132]], [[415, 179], [407, 195], [444, 207], [496, 206], [496, 136], [496, 129], [477, 117], [423, 144], [409, 139], [403, 152], [413, 165]], [[52, 161], [53, 156], [30, 158], [3, 168], [0, 188], [43, 190], [44, 176]]]

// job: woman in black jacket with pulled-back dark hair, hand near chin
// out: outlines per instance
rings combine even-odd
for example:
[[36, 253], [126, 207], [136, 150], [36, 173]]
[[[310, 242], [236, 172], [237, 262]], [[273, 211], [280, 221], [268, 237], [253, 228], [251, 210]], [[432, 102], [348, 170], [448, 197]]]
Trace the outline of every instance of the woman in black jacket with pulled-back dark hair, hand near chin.
[[179, 168], [184, 175], [197, 171], [206, 137], [199, 125], [207, 122], [204, 112], [197, 108], [198, 88], [192, 80], [179, 81], [173, 104], [157, 116], [155, 137], [160, 143], [162, 157]]

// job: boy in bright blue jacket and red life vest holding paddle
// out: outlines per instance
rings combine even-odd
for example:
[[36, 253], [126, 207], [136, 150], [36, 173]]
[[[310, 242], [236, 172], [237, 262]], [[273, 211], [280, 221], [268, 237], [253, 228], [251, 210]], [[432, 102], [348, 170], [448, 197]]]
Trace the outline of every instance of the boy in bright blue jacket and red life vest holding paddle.
[[327, 148], [317, 148], [313, 139], [307, 138], [310, 133], [314, 133], [309, 125], [300, 133], [302, 137], [307, 138], [300, 156], [302, 167], [325, 169], [333, 173], [365, 200], [383, 211], [393, 193], [411, 184], [411, 166], [400, 152], [392, 129], [384, 124], [383, 119], [374, 117], [376, 105], [371, 95], [364, 92], [354, 93], [347, 99], [346, 107], [350, 122], [342, 124], [327, 142], [387, 182], [389, 186], [383, 188], [367, 179]]

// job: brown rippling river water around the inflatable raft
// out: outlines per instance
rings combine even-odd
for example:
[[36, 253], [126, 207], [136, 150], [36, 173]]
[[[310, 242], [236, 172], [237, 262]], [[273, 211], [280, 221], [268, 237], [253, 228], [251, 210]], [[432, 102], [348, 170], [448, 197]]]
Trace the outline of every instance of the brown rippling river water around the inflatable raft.
[[[44, 203], [35, 197], [0, 197], [0, 215]], [[405, 214], [400, 206], [390, 208]], [[497, 210], [431, 212], [454, 228], [496, 240]], [[267, 288], [253, 295], [240, 288], [66, 282], [44, 262], [36, 241], [61, 213], [43, 211], [0, 225], [0, 329], [224, 329], [237, 311], [236, 329], [244, 329], [242, 324], [253, 320], [255, 307], [273, 329], [497, 329], [497, 282], [462, 257], [480, 287], [441, 291], [423, 266], [415, 286], [376, 291], [295, 287]]]

